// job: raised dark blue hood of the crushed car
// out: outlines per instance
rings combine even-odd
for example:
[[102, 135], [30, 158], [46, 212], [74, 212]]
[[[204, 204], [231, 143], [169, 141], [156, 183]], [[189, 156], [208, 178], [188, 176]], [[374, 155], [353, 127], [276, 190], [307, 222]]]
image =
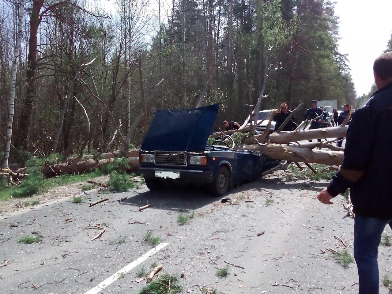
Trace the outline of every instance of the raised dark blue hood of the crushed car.
[[219, 104], [193, 109], [157, 110], [142, 143], [148, 151], [204, 151]]

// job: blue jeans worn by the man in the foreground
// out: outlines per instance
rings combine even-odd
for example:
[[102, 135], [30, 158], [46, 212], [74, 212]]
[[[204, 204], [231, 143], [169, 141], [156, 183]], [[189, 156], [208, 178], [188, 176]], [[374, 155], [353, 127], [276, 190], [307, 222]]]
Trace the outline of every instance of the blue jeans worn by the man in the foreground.
[[355, 215], [354, 258], [358, 267], [359, 294], [378, 294], [378, 246], [387, 224], [392, 229], [392, 219], [380, 220]]

